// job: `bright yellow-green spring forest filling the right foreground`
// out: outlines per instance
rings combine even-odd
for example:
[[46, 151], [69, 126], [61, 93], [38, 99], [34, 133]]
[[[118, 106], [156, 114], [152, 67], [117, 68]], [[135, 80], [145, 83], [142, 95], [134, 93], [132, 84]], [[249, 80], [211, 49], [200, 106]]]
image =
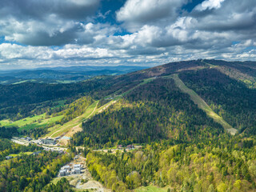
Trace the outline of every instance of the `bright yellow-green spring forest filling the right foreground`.
[[170, 191], [254, 191], [255, 138], [223, 134], [205, 142], [151, 142], [144, 150], [91, 152], [95, 179], [114, 191], [154, 184]]

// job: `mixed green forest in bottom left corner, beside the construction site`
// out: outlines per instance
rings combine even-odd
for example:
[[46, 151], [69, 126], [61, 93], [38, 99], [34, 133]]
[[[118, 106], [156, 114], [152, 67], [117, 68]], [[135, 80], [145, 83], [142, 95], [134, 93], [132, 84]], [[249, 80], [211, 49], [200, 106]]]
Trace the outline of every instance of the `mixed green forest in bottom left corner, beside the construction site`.
[[[58, 174], [60, 167], [71, 159], [71, 155], [57, 152], [26, 153], [38, 150], [42, 150], [42, 147], [21, 146], [7, 139], [0, 140], [0, 191], [40, 192]], [[5, 160], [10, 154], [16, 156]]]

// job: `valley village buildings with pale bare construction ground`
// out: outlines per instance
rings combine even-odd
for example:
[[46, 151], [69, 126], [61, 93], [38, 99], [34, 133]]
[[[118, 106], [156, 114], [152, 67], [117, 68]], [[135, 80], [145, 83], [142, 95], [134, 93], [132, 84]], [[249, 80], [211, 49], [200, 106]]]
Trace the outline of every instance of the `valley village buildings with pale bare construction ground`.
[[[59, 146], [59, 139], [60, 138], [39, 138], [34, 139], [30, 137], [23, 137], [18, 138], [14, 137], [11, 140], [21, 145], [30, 145], [36, 144], [38, 146], [42, 146], [43, 150], [46, 151], [56, 151], [60, 154], [66, 154], [66, 147]], [[113, 153], [115, 154], [118, 150], [136, 150], [141, 148], [142, 146], [138, 145], [118, 145], [115, 149], [102, 149], [102, 150], [94, 150], [100, 153]], [[80, 148], [83, 148], [80, 146]], [[33, 152], [29, 155], [39, 155], [42, 153], [42, 150], [38, 150]], [[6, 160], [11, 158], [16, 158], [9, 154], [6, 156]], [[105, 186], [102, 186], [102, 183], [95, 181], [94, 178], [91, 176], [90, 171], [86, 166], [86, 158], [82, 157], [82, 154], [77, 154], [74, 158], [68, 162], [66, 165], [62, 166], [61, 169], [58, 171], [58, 176], [54, 178], [53, 182], [58, 182], [61, 178], [67, 178], [70, 182], [71, 186], [74, 186], [77, 190], [94, 190], [94, 191], [107, 191], [110, 192], [111, 190], [106, 189]]]

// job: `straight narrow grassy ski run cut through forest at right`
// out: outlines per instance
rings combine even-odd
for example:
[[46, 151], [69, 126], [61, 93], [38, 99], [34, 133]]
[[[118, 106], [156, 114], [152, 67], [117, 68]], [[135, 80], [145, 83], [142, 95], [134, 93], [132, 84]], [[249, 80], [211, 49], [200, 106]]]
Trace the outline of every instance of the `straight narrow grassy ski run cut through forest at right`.
[[183, 93], [189, 94], [191, 100], [198, 105], [198, 107], [206, 112], [206, 114], [213, 118], [215, 122], [221, 124], [226, 130], [230, 132], [230, 134], [236, 134], [238, 130], [234, 129], [230, 124], [228, 124], [223, 118], [218, 116], [211, 108], [207, 105], [207, 103], [197, 94], [194, 90], [190, 90], [185, 84], [182, 82], [180, 78], [178, 78], [178, 74], [173, 74], [171, 78], [174, 79], [175, 84], [178, 86]]

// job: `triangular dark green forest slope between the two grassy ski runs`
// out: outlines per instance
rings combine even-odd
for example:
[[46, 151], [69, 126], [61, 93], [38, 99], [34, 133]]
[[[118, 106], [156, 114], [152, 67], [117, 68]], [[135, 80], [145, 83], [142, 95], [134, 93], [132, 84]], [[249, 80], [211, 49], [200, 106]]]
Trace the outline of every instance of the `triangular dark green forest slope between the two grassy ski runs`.
[[139, 86], [82, 127], [83, 132], [74, 135], [72, 144], [112, 146], [123, 140], [145, 143], [167, 138], [184, 142], [223, 132], [222, 126], [198, 109], [170, 78]]

